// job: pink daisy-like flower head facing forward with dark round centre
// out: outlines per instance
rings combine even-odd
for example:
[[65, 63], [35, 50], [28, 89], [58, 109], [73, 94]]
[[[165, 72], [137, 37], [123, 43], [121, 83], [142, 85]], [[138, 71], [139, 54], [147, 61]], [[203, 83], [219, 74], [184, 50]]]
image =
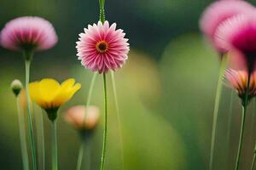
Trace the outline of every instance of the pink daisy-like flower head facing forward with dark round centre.
[[108, 21], [84, 28], [79, 34], [76, 48], [82, 65], [99, 73], [116, 71], [128, 59], [129, 43], [123, 30], [116, 30], [116, 24], [109, 26]]

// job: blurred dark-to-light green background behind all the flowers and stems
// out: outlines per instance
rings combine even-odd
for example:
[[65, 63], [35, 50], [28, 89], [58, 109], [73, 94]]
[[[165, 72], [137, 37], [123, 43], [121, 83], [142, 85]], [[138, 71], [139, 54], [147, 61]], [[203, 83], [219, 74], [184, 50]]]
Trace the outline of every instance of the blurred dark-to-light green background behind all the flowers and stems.
[[[106, 0], [107, 20], [124, 29], [131, 43], [129, 60], [122, 70], [116, 72], [126, 170], [208, 168], [219, 59], [201, 36], [198, 20], [209, 3], [212, 1]], [[63, 105], [59, 112], [61, 170], [75, 169], [81, 143], [78, 133], [63, 121], [63, 112], [69, 106], [85, 104], [92, 77], [76, 57], [75, 42], [84, 27], [98, 20], [98, 12], [96, 0], [0, 1], [0, 28], [15, 17], [38, 15], [51, 21], [58, 33], [59, 42], [55, 48], [35, 54], [32, 81], [52, 77], [61, 82], [74, 77], [83, 84], [75, 98]], [[24, 82], [25, 69], [20, 55], [0, 48], [1, 169], [22, 167], [15, 97], [9, 88], [15, 78]], [[111, 86], [108, 77], [110, 123], [106, 169], [119, 170], [122, 169], [119, 127]], [[96, 79], [92, 103], [101, 111], [102, 92], [100, 75]], [[230, 96], [233, 96], [231, 107]], [[232, 119], [229, 123], [230, 108]], [[250, 108], [242, 169], [248, 169], [253, 156], [254, 101]], [[232, 95], [230, 89], [224, 87], [214, 169], [234, 168], [240, 111], [236, 94]], [[92, 139], [91, 169], [98, 169], [100, 162], [102, 121]], [[50, 169], [50, 124], [45, 114], [44, 124], [46, 169]], [[226, 137], [229, 127], [230, 139]]]

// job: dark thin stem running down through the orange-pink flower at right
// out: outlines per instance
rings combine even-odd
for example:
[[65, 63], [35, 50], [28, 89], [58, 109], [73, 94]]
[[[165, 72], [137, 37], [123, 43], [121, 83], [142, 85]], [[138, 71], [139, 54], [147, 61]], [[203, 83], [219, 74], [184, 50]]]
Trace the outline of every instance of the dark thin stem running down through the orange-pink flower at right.
[[249, 87], [250, 87], [250, 81], [251, 81], [251, 71], [248, 71], [248, 78], [247, 78], [247, 91], [244, 99], [244, 104], [242, 106], [242, 113], [241, 113], [241, 131], [240, 131], [240, 137], [239, 137], [239, 144], [238, 144], [238, 151], [236, 156], [236, 167], [235, 169], [239, 169], [240, 161], [241, 161], [241, 149], [243, 145], [243, 133], [244, 133], [244, 127], [245, 127], [245, 121], [246, 121], [246, 115], [247, 115], [247, 105], [248, 105], [248, 94], [249, 94]]

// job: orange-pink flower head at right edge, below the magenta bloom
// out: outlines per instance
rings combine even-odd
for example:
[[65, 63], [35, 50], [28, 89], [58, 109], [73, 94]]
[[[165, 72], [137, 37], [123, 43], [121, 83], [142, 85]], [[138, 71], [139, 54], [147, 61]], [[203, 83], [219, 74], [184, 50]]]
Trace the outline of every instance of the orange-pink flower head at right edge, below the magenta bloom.
[[[250, 77], [248, 101], [256, 96], [256, 72], [253, 72]], [[225, 72], [225, 78], [231, 83], [232, 88], [236, 89], [238, 96], [244, 104], [247, 93], [248, 72], [229, 69]]]

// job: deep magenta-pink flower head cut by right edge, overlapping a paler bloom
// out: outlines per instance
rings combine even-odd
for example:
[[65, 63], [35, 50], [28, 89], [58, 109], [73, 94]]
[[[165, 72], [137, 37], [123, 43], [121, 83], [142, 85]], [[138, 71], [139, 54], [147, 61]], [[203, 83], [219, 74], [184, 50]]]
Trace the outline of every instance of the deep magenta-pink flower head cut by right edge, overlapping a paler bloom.
[[256, 10], [224, 21], [216, 31], [216, 42], [220, 48], [236, 49], [244, 54], [252, 71], [256, 59]]

